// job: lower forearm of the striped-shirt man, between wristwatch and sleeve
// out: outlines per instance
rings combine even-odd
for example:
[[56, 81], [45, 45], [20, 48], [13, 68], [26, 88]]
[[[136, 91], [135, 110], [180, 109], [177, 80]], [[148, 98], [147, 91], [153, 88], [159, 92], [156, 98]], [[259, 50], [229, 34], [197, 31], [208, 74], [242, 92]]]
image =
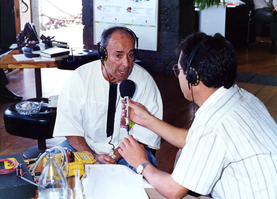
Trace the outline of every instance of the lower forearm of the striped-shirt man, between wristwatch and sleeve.
[[175, 182], [169, 173], [158, 170], [151, 164], [146, 165], [142, 174], [166, 198], [182, 198], [188, 192], [188, 189]]

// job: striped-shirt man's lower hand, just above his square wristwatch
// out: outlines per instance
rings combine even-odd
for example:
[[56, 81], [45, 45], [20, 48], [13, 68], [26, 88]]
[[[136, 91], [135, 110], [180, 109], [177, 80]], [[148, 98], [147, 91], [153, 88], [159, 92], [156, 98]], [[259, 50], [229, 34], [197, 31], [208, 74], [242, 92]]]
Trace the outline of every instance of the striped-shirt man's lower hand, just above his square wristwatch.
[[118, 153], [134, 168], [148, 160], [145, 148], [139, 144], [132, 135], [128, 135], [127, 138], [123, 138], [122, 142], [119, 143], [120, 149]]

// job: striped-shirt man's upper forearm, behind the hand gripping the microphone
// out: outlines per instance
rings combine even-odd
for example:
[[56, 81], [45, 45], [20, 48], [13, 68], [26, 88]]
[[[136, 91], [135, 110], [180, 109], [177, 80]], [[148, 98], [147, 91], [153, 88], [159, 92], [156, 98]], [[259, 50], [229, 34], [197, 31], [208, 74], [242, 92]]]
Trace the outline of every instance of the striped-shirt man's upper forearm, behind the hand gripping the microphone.
[[146, 128], [178, 148], [182, 149], [186, 144], [187, 129], [174, 127], [154, 116], [149, 116]]

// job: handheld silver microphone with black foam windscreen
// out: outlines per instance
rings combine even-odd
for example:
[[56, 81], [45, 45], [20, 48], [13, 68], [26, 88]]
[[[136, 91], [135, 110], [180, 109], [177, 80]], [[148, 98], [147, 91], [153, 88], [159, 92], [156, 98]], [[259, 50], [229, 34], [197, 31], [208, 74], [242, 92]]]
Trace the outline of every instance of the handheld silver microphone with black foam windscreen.
[[119, 86], [120, 95], [124, 98], [124, 103], [126, 105], [126, 129], [129, 135], [130, 130], [130, 107], [127, 104], [127, 99], [131, 99], [136, 91], [136, 84], [130, 80], [126, 79], [120, 83]]

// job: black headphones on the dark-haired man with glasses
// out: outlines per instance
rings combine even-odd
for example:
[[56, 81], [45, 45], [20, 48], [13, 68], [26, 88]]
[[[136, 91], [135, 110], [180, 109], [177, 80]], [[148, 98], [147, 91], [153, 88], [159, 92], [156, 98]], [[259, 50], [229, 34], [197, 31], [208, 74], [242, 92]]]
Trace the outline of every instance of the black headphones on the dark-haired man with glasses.
[[197, 53], [197, 51], [199, 50], [200, 46], [202, 45], [202, 42], [200, 42], [199, 44], [197, 44], [194, 49], [192, 50], [192, 52], [189, 55], [189, 59], [187, 61], [187, 70], [186, 70], [186, 79], [188, 82], [188, 86], [189, 86], [189, 90], [190, 90], [190, 85], [192, 86], [197, 86], [199, 84], [200, 78], [199, 75], [197, 73], [197, 71], [192, 68], [190, 65], [192, 63], [192, 59], [194, 58], [195, 54]]

